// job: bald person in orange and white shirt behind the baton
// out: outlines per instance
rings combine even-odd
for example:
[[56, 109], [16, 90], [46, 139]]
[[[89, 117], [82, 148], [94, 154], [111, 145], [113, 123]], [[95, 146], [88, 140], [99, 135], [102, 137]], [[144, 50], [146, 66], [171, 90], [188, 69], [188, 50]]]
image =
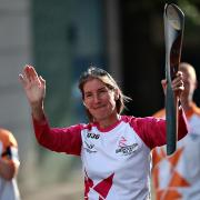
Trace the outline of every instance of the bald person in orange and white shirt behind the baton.
[[[178, 141], [172, 156], [167, 156], [166, 146], [152, 150], [152, 182], [157, 200], [200, 199], [200, 108], [193, 102], [197, 74], [187, 62], [180, 63], [180, 71], [184, 82], [180, 100], [189, 133]], [[166, 80], [162, 80], [162, 87], [166, 87]], [[166, 110], [156, 112], [153, 117], [164, 118]]]

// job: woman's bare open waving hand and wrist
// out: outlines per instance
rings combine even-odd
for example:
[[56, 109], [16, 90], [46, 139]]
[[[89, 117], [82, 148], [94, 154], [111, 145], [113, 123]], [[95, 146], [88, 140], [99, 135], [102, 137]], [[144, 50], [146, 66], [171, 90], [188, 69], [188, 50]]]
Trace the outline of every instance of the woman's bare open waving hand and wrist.
[[46, 97], [46, 81], [41, 76], [38, 76], [36, 69], [29, 64], [23, 68], [19, 78], [31, 107], [33, 118], [36, 120], [42, 120], [44, 116], [43, 100]]

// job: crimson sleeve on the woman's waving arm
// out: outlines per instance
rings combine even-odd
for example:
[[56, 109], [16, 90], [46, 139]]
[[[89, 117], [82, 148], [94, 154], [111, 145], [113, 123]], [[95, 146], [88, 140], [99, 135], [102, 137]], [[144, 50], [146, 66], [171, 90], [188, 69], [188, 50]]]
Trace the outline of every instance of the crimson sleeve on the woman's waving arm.
[[50, 128], [47, 119], [37, 121], [32, 118], [34, 133], [38, 142], [52, 151], [80, 156], [81, 124], [68, 128]]

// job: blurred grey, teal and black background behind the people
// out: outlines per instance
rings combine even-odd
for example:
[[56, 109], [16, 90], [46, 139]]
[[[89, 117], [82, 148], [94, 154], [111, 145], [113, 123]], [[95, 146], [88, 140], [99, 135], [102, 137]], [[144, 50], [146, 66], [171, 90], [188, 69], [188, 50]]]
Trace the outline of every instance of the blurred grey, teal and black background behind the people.
[[[18, 74], [33, 64], [47, 80], [53, 127], [87, 122], [77, 81], [90, 64], [104, 68], [132, 98], [124, 113], [151, 116], [164, 106], [161, 0], [0, 0], [0, 127], [18, 140], [24, 200], [83, 199], [79, 158], [37, 143]], [[177, 0], [186, 13], [181, 61], [200, 80], [200, 1]], [[200, 106], [199, 90], [194, 100]]]

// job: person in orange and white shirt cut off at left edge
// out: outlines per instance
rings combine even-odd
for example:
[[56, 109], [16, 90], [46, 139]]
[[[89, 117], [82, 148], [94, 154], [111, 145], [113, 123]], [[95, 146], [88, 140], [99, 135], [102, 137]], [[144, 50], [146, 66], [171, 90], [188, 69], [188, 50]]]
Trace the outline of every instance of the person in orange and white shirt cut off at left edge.
[[0, 128], [0, 199], [19, 200], [16, 181], [19, 169], [18, 144], [13, 134]]

